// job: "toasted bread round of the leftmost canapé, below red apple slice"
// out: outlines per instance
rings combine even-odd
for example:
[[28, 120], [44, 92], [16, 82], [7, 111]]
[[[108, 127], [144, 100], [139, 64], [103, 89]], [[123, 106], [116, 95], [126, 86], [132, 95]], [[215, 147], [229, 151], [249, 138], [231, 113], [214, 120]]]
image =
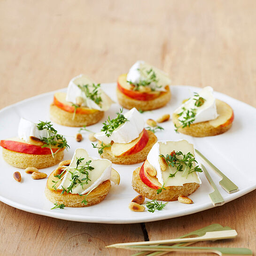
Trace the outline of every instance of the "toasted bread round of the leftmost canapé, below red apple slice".
[[3, 159], [10, 165], [26, 169], [27, 167], [36, 167], [37, 169], [47, 168], [59, 163], [64, 155], [64, 148], [58, 151], [54, 158], [52, 154], [33, 155], [12, 151], [6, 148], [2, 149]]

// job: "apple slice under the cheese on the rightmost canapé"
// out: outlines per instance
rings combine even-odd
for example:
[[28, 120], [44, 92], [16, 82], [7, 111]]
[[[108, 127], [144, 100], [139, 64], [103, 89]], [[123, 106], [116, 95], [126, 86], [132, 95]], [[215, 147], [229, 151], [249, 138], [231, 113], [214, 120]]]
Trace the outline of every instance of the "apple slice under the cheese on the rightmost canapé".
[[213, 127], [225, 127], [231, 124], [234, 120], [233, 109], [224, 101], [216, 100], [216, 107], [218, 117], [214, 120], [209, 121], [209, 124]]

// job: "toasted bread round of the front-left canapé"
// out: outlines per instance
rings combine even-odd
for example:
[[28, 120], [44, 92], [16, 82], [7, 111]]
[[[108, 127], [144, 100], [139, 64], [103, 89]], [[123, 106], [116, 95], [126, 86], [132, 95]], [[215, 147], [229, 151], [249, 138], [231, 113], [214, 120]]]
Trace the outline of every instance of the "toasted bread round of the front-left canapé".
[[[93, 191], [88, 194], [86, 196], [86, 201], [87, 204], [85, 205], [84, 203], [82, 203], [84, 197], [86, 194], [84, 195], [79, 195], [79, 194], [71, 194], [71, 193], [66, 193], [64, 192], [64, 194], [62, 194], [62, 190], [57, 190], [55, 191], [52, 188], [52, 180], [56, 181], [58, 180], [58, 178], [54, 177], [54, 175], [56, 175], [58, 170], [54, 170], [48, 180], [47, 180], [47, 185], [45, 188], [45, 195], [47, 197], [47, 199], [53, 203], [57, 202], [58, 204], [64, 204], [67, 207], [87, 207], [87, 206], [91, 206], [93, 204], [97, 204], [99, 202], [101, 202], [109, 193], [109, 190], [111, 188], [111, 182], [110, 180], [106, 180], [104, 182], [102, 182], [99, 186], [97, 186], [95, 189], [93, 189]], [[58, 173], [60, 174], [60, 173]], [[58, 186], [58, 185], [56, 185]]]

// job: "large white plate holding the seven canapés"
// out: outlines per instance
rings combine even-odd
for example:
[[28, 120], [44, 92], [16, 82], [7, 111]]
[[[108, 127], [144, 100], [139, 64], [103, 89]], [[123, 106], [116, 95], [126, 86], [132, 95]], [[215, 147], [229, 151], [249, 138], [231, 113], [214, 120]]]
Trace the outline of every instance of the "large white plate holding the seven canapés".
[[[102, 84], [102, 87], [116, 101], [116, 84]], [[162, 109], [143, 113], [145, 120], [147, 118], [156, 119], [166, 113], [171, 114], [183, 99], [190, 97], [192, 92], [198, 92], [199, 90], [199, 88], [191, 86], [171, 86], [172, 98], [169, 104]], [[17, 136], [20, 117], [34, 122], [50, 120], [49, 105], [53, 101], [53, 95], [54, 92], [41, 94], [0, 110], [0, 139]], [[164, 131], [156, 132], [155, 135], [159, 140], [186, 139], [193, 143], [195, 148], [208, 157], [239, 187], [238, 192], [227, 194], [218, 185], [221, 178], [205, 165], [225, 202], [229, 202], [256, 189], [256, 167], [255, 164], [252, 164], [255, 160], [256, 147], [256, 109], [221, 93], [215, 93], [215, 96], [227, 102], [234, 110], [235, 119], [229, 131], [213, 137], [193, 138], [174, 132], [172, 122], [168, 121], [161, 124]], [[111, 109], [105, 113], [102, 122], [108, 116], [114, 117], [119, 108], [118, 104], [112, 105]], [[95, 132], [100, 131], [102, 122], [90, 126], [89, 129]], [[65, 127], [58, 124], [54, 124], [54, 127], [64, 135], [74, 136], [78, 132], [78, 128]], [[72, 137], [67, 138], [70, 149], [65, 151], [64, 160], [71, 159], [77, 147], [85, 147], [90, 155], [99, 157], [97, 149], [93, 148], [90, 140], [88, 140], [88, 134], [84, 134], [84, 138], [80, 143]], [[169, 202], [162, 211], [155, 211], [155, 213], [148, 211], [132, 212], [128, 209], [128, 204], [137, 195], [137, 192], [131, 186], [132, 171], [140, 165], [113, 164], [113, 168], [120, 173], [121, 182], [119, 186], [112, 186], [108, 196], [101, 203], [84, 208], [65, 207], [65, 209], [51, 210], [53, 203], [49, 202], [44, 194], [47, 179], [33, 180], [31, 175], [26, 174], [23, 169], [8, 165], [0, 157], [0, 201], [18, 209], [40, 215], [97, 223], [148, 222], [179, 217], [213, 207], [208, 196], [212, 189], [204, 174], [200, 174], [202, 185], [190, 195], [194, 204], [187, 205], [176, 201]], [[50, 174], [53, 170], [54, 167], [50, 167], [42, 171]], [[14, 171], [21, 172], [23, 178], [21, 183], [18, 183], [12, 177]]]

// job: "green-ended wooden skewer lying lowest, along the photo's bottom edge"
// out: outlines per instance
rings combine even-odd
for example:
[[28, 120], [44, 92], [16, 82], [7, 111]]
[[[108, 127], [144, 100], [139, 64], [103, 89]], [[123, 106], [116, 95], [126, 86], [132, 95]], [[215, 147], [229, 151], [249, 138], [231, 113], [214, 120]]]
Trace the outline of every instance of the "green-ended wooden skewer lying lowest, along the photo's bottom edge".
[[192, 247], [192, 246], [164, 246], [164, 245], [133, 245], [124, 247], [129, 250], [147, 250], [147, 251], [167, 251], [167, 252], [211, 252], [219, 256], [248, 256], [252, 255], [252, 251], [248, 248], [221, 248], [221, 247]]

